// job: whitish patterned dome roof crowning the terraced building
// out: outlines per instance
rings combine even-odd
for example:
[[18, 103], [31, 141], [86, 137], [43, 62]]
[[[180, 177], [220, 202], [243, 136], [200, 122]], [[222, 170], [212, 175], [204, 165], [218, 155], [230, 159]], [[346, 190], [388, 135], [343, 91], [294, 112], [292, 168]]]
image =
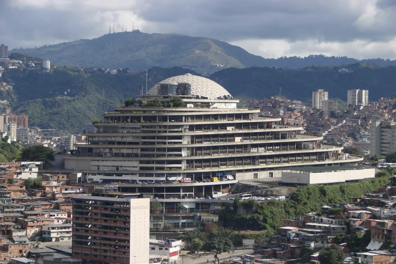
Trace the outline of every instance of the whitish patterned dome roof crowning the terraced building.
[[[223, 86], [202, 76], [192, 74], [177, 75], [165, 79], [160, 83], [190, 83], [192, 95], [203, 96], [208, 99], [217, 99], [224, 96], [232, 98], [232, 95]], [[157, 93], [157, 85], [154, 85], [147, 91], [147, 94], [150, 95], [156, 95]]]

